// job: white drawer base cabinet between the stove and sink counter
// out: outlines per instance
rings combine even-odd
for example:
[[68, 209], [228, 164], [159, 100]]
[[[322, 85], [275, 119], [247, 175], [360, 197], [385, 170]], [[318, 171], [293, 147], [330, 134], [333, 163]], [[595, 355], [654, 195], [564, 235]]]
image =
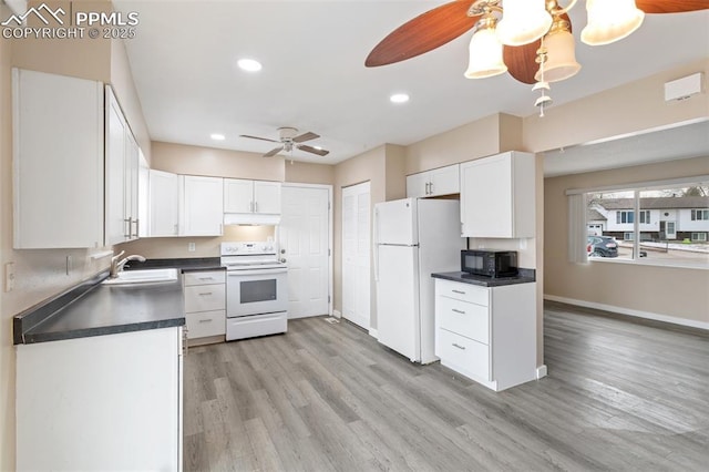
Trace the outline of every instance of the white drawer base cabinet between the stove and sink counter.
[[[191, 346], [226, 335], [226, 274], [191, 271], [183, 277], [187, 339]], [[223, 340], [223, 339], [222, 339]]]

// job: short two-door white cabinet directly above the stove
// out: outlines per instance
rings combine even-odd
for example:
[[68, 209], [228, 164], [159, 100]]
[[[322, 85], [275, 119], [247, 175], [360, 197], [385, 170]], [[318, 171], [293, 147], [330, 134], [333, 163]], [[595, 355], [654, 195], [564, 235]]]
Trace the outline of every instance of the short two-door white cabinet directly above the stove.
[[224, 179], [224, 213], [280, 214], [280, 183]]

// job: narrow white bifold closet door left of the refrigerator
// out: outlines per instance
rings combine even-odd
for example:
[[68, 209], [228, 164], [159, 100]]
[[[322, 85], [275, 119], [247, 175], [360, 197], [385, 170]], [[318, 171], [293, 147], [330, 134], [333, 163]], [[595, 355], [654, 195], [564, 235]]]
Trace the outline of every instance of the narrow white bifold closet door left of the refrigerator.
[[342, 316], [370, 328], [370, 184], [342, 188]]

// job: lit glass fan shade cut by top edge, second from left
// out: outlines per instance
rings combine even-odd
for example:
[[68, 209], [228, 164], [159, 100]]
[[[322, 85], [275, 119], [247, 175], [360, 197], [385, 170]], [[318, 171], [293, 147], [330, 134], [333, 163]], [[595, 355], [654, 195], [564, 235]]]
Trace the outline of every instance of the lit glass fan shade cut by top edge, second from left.
[[544, 0], [504, 0], [497, 38], [506, 45], [528, 44], [542, 38], [552, 25]]

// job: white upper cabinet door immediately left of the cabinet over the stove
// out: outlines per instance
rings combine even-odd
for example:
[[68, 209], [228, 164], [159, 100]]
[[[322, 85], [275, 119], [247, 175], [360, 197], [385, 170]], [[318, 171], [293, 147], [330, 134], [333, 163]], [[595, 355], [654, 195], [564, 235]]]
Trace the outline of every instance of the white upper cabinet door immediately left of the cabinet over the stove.
[[222, 236], [224, 178], [181, 175], [182, 236]]

